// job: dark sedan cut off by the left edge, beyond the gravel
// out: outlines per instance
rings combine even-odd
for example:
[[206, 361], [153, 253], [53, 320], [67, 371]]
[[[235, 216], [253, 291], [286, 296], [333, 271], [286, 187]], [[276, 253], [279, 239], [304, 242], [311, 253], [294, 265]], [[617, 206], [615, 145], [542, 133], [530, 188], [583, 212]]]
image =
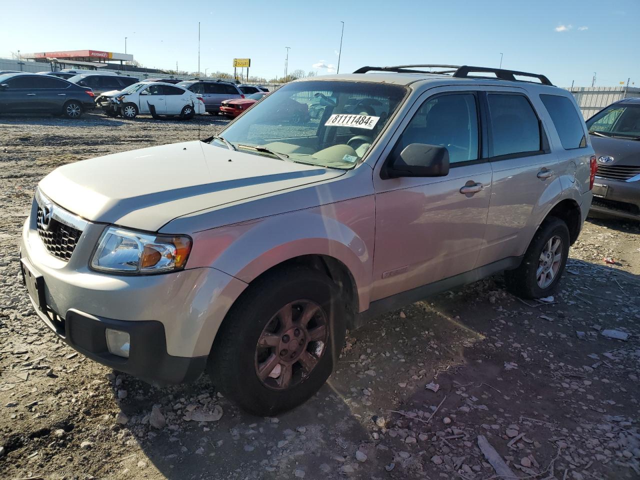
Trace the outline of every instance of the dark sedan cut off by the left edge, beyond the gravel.
[[0, 76], [0, 113], [42, 112], [78, 118], [92, 108], [91, 88], [49, 75]]

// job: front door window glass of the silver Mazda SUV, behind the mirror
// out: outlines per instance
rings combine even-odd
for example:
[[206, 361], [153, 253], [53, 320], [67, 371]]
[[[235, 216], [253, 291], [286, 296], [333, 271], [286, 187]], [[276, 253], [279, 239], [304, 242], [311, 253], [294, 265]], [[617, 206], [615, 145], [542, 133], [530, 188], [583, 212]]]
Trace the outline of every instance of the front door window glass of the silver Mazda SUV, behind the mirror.
[[476, 96], [440, 95], [426, 100], [413, 115], [396, 144], [396, 157], [411, 143], [447, 148], [449, 163], [478, 159]]

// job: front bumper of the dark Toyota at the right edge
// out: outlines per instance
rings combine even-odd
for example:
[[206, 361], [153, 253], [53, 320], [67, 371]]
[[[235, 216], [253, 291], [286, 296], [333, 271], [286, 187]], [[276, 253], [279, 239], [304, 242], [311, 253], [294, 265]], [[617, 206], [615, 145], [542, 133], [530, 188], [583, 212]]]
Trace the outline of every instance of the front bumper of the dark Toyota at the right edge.
[[598, 191], [605, 192], [603, 196], [593, 196], [592, 212], [640, 221], [640, 180], [629, 182], [596, 176], [595, 184], [604, 186]]

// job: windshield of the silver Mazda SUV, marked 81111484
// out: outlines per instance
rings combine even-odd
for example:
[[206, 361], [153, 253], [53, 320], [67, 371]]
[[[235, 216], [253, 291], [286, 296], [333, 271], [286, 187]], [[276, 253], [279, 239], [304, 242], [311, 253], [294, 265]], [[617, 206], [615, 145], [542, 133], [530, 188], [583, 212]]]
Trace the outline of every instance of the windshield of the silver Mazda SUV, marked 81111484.
[[[386, 83], [293, 82], [270, 93], [221, 135], [241, 151], [260, 152], [259, 147], [264, 155], [270, 150], [299, 163], [353, 168], [405, 93], [403, 86]], [[225, 147], [220, 140], [212, 144]]]

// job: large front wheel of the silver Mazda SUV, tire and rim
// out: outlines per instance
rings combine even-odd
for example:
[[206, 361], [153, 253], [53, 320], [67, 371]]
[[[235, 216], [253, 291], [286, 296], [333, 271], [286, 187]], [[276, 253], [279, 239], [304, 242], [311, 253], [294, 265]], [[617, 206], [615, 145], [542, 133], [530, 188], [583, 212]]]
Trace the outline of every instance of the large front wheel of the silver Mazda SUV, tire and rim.
[[[288, 326], [282, 314], [287, 310]], [[307, 328], [303, 314], [310, 317]], [[250, 285], [229, 310], [207, 371], [216, 388], [248, 413], [269, 416], [291, 410], [315, 394], [333, 371], [344, 344], [346, 315], [339, 290], [320, 271], [275, 271]], [[324, 337], [314, 341], [310, 335]], [[274, 346], [259, 346], [262, 337]]]

